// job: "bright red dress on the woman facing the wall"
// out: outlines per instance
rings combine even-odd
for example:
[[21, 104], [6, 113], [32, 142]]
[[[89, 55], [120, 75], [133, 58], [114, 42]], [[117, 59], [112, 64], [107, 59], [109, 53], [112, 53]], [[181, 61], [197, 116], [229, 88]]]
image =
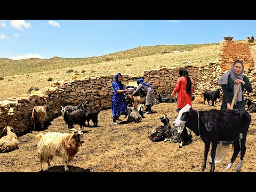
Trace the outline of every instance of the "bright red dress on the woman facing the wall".
[[191, 97], [193, 93], [193, 87], [191, 85], [191, 94], [189, 95], [186, 91], [187, 87], [187, 77], [179, 77], [177, 83], [174, 88], [174, 93], [178, 92], [177, 97], [177, 108], [182, 108], [187, 104], [192, 106], [191, 104]]

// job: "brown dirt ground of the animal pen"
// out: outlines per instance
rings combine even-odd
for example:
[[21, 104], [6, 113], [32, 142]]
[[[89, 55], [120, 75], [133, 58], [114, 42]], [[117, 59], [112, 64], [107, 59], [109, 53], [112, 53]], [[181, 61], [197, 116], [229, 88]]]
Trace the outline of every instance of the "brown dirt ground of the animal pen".
[[[84, 128], [84, 143], [70, 162], [69, 172], [199, 172], [203, 163], [204, 143], [194, 133], [192, 133], [192, 143], [182, 148], [178, 147], [178, 143], [153, 142], [147, 137], [153, 127], [162, 125], [159, 117], [163, 114], [168, 115], [172, 123], [178, 115], [176, 108], [176, 103], [160, 103], [152, 107], [157, 113], [146, 114], [142, 122], [125, 124], [124, 116], [121, 116], [123, 122], [118, 125], [112, 124], [110, 109], [100, 111], [99, 126]], [[219, 109], [219, 107], [195, 103], [193, 108], [196, 110]], [[92, 125], [92, 122], [90, 123]], [[255, 124], [255, 114], [252, 114], [242, 172], [256, 172]], [[63, 133], [67, 129], [67, 125], [60, 116], [41, 132]], [[38, 133], [33, 131], [19, 137], [19, 149], [0, 154], [0, 172], [39, 171], [35, 141], [35, 135]], [[215, 164], [215, 172], [236, 171], [239, 154], [231, 169], [225, 171], [232, 152], [233, 150], [229, 147], [223, 161]], [[60, 157], [54, 157], [51, 164], [52, 167], [47, 169], [47, 164], [43, 163], [44, 172], [64, 172], [64, 163]], [[209, 171], [208, 158], [205, 172]]]

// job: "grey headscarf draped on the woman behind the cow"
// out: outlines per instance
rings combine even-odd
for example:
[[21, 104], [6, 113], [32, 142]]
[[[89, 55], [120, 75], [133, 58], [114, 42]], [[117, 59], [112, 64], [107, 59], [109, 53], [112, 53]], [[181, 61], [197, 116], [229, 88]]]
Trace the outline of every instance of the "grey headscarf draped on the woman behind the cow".
[[[239, 74], [239, 75], [237, 75], [236, 73], [235, 73], [235, 69], [234, 69], [234, 64], [235, 63], [241, 63], [242, 64], [242, 66], [243, 66], [243, 70], [242, 70], [242, 73], [241, 74]], [[244, 63], [243, 63], [243, 61], [241, 61], [241, 60], [235, 60], [233, 63], [232, 63], [232, 66], [231, 66], [231, 69], [227, 72], [227, 73], [225, 73], [225, 74], [223, 74], [221, 77], [220, 77], [220, 79], [219, 79], [219, 81], [218, 81], [218, 84], [220, 85], [220, 84], [227, 84], [228, 83], [228, 76], [230, 75], [230, 77], [231, 77], [231, 79], [235, 82], [235, 80], [236, 79], [241, 79], [241, 80], [243, 80], [243, 78], [244, 78]], [[236, 91], [236, 87], [237, 87], [237, 84], [236, 83], [234, 83], [234, 94], [235, 94], [235, 91]], [[237, 97], [236, 97], [236, 100], [235, 100], [235, 105], [236, 105], [236, 102], [237, 101], [242, 101], [242, 86], [240, 86], [240, 88], [239, 88], [239, 90], [238, 90], [238, 93], [237, 93]]]

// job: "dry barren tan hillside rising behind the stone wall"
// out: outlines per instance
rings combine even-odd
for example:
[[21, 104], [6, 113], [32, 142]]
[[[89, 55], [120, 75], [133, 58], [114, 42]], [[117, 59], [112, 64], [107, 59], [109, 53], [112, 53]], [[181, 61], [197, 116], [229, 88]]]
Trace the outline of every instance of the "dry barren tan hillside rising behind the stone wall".
[[[30, 86], [42, 89], [66, 77], [114, 75], [140, 76], [143, 71], [191, 64], [204, 65], [218, 59], [220, 44], [139, 46], [135, 49], [91, 58], [11, 60], [0, 58], [0, 100], [21, 97]], [[72, 73], [67, 73], [73, 69]], [[85, 71], [81, 73], [82, 71]], [[53, 81], [47, 81], [51, 77]]]

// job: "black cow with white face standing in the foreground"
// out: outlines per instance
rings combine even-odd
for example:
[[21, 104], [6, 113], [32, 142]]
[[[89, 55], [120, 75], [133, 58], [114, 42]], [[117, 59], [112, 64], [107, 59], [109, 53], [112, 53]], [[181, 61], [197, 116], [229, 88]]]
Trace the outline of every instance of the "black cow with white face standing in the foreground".
[[[204, 141], [204, 162], [201, 171], [206, 167], [207, 155], [212, 143], [211, 158], [215, 159], [218, 141], [234, 141], [234, 153], [226, 171], [233, 165], [241, 151], [237, 172], [241, 171], [245, 154], [246, 136], [251, 123], [251, 115], [243, 109], [196, 111], [188, 104], [179, 111], [173, 122], [174, 126], [186, 126]], [[215, 161], [212, 161], [210, 172], [214, 172]]]

